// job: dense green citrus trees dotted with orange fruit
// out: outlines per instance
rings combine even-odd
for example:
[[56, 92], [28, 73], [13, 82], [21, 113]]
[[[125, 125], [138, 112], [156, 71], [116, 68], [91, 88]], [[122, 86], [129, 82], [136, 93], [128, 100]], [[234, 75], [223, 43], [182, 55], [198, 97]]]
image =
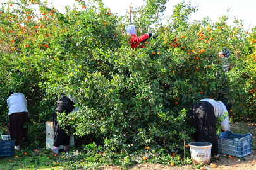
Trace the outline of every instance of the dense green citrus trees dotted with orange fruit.
[[[116, 16], [101, 1], [78, 1], [82, 10], [74, 6], [65, 14], [41, 1], [15, 2], [4, 4], [0, 14], [1, 111], [6, 117], [8, 89], [22, 91], [36, 124], [30, 133], [44, 128], [61, 93], [80, 101], [78, 112], [60, 115], [61, 124], [75, 127], [77, 135], [94, 133], [112, 149], [173, 150], [191, 142], [188, 111], [203, 98], [224, 95], [233, 104], [234, 120], [252, 113], [253, 105], [245, 103], [248, 90], [255, 99], [255, 29], [247, 34], [242, 20], [235, 19], [235, 28], [226, 24], [228, 16], [218, 23], [188, 23], [197, 8], [181, 2], [173, 22], [162, 25], [158, 13], [166, 1], [147, 1], [144, 11], [133, 13], [135, 26], [140, 34], [154, 24], [157, 38], [134, 51], [124, 29], [129, 18]], [[231, 52], [229, 72], [218, 56], [222, 47]]]

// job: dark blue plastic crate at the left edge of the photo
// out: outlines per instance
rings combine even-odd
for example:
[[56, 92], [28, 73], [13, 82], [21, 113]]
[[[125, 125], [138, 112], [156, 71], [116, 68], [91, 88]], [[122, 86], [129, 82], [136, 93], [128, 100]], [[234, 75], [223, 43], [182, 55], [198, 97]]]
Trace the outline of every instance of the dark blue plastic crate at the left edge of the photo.
[[15, 140], [0, 140], [0, 157], [13, 156]]

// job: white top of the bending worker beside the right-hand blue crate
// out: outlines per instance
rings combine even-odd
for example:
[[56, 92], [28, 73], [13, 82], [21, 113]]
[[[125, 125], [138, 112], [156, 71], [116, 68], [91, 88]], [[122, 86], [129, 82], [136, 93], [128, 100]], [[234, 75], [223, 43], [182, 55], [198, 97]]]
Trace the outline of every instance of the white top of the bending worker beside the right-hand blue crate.
[[[221, 101], [215, 101], [214, 99], [201, 99], [200, 101], [207, 101], [214, 107], [214, 115], [215, 117], [220, 117], [221, 115], [224, 115], [224, 112], [228, 113], [228, 110], [224, 103]], [[229, 127], [229, 117], [227, 116], [224, 120], [221, 122], [221, 129], [226, 131]]]

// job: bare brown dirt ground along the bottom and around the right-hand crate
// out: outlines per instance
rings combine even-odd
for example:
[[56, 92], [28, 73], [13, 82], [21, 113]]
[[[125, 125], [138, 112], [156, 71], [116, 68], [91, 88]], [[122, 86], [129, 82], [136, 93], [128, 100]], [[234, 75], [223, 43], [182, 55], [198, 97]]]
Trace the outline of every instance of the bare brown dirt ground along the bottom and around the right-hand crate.
[[[238, 133], [241, 135], [245, 135], [247, 133], [252, 134], [253, 144], [256, 140], [256, 124], [249, 125], [247, 122], [240, 123], [230, 123], [230, 130], [233, 133]], [[207, 166], [203, 166], [205, 170], [220, 170], [220, 169], [232, 169], [232, 170], [256, 170], [256, 150], [253, 150], [252, 154], [249, 154], [243, 158], [238, 157], [228, 157], [226, 158], [225, 154], [220, 154], [222, 159], [212, 161], [211, 164]], [[217, 167], [214, 168], [212, 164], [215, 164]], [[99, 170], [119, 170], [119, 167], [115, 166], [101, 166]], [[162, 164], [136, 164], [134, 166], [128, 167], [131, 170], [137, 169], [147, 169], [147, 170], [164, 170], [164, 169], [197, 169], [193, 165], [185, 165], [185, 166], [164, 166]]]

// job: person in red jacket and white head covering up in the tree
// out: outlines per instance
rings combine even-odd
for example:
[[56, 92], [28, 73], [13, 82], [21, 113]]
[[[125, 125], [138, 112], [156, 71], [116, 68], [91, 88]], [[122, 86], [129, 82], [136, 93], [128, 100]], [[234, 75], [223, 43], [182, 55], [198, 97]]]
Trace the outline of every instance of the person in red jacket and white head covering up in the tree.
[[[143, 40], [149, 38], [152, 36], [152, 33], [146, 33], [145, 35], [142, 35], [141, 37], [136, 36], [136, 29], [135, 26], [129, 25], [125, 28], [126, 33], [130, 35], [130, 38], [128, 39], [128, 42], [131, 44], [131, 48], [136, 49], [138, 48], [138, 43], [142, 42]], [[144, 48], [143, 45], [139, 45], [139, 48]]]

